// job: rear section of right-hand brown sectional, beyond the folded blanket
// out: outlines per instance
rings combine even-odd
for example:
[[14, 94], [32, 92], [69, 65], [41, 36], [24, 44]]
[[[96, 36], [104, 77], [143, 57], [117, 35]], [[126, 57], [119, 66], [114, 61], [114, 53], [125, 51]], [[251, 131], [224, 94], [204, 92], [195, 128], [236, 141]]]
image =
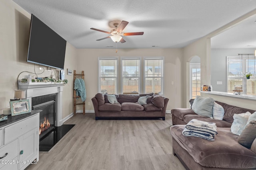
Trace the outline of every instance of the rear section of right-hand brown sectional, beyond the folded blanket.
[[224, 108], [223, 120], [211, 119], [210, 117], [196, 114], [191, 108], [175, 108], [171, 110], [172, 113], [172, 125], [186, 125], [192, 119], [198, 119], [201, 121], [208, 121], [216, 123], [217, 127], [231, 127], [234, 119], [234, 113], [254, 113], [255, 110], [246, 109], [242, 107], [232, 106], [226, 103], [215, 101]]

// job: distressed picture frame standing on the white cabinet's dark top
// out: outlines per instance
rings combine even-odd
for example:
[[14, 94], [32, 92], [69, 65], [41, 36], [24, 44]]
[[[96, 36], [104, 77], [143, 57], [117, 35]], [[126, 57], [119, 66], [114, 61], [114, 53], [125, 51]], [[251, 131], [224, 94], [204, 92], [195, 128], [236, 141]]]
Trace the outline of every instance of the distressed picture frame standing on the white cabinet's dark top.
[[10, 108], [12, 116], [31, 112], [29, 100], [10, 101]]

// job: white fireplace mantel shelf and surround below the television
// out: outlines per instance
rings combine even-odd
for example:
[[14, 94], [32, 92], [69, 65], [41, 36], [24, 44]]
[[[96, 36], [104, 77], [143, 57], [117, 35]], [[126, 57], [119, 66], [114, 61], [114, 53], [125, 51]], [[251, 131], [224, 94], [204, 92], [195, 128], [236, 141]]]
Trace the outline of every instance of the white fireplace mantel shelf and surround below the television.
[[26, 99], [30, 101], [36, 96], [44, 96], [47, 94], [57, 94], [56, 96], [56, 115], [57, 115], [57, 126], [61, 126], [62, 123], [62, 92], [64, 83], [56, 82], [18, 82], [20, 90], [26, 90]]

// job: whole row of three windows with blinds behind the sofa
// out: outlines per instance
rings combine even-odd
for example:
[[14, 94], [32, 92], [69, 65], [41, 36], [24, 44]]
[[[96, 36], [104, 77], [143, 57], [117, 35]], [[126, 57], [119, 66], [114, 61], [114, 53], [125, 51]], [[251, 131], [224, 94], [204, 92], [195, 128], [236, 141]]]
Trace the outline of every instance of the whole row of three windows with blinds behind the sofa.
[[163, 94], [164, 57], [99, 57], [98, 70], [99, 93]]

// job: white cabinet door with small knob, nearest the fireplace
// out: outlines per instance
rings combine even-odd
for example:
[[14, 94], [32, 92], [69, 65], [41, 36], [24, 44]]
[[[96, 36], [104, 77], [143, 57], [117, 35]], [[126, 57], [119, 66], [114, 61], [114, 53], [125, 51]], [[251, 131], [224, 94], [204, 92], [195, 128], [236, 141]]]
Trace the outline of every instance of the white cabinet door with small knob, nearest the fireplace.
[[[19, 148], [19, 160], [26, 161], [26, 164], [20, 164], [19, 169], [24, 169], [28, 166], [29, 161], [37, 154], [37, 131], [38, 128], [25, 133], [20, 138], [20, 148]], [[32, 160], [33, 161], [33, 160]], [[26, 165], [26, 166], [25, 166]]]

